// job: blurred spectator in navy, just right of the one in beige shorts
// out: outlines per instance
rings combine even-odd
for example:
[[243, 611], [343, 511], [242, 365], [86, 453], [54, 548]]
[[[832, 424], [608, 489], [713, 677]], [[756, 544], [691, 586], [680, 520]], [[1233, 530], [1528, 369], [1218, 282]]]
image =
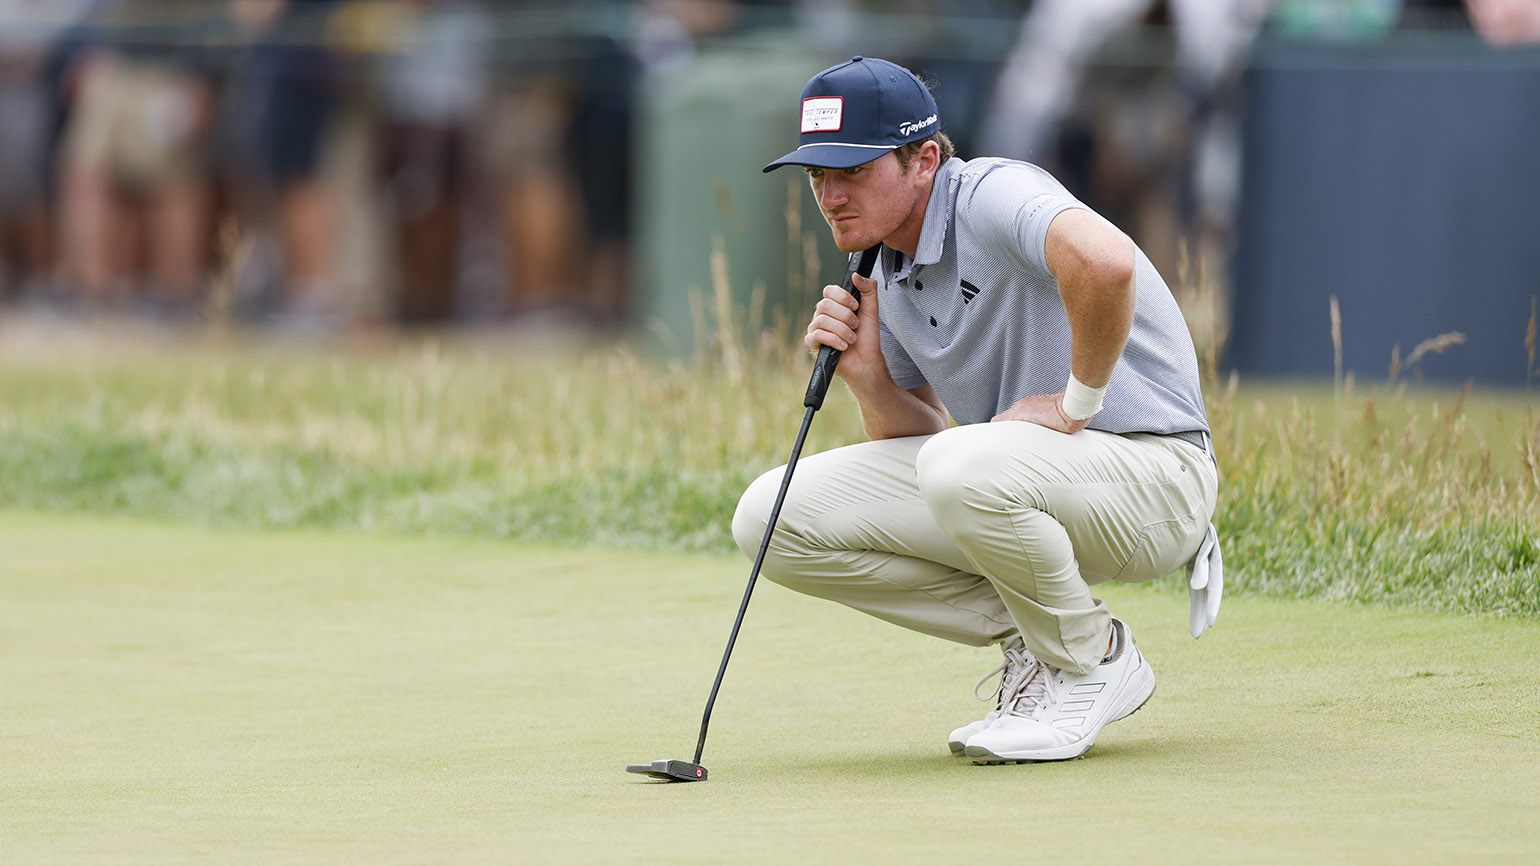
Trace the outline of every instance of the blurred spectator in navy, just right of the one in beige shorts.
[[[325, 42], [328, 15], [339, 3], [229, 0], [243, 48], [225, 92], [223, 171], [246, 231], [276, 227], [280, 297], [266, 300], [277, 307], [268, 311], [300, 330], [343, 324], [333, 257], [336, 202], [320, 179], [342, 76]], [[242, 290], [271, 293], [263, 277], [259, 273], [259, 285]]]

